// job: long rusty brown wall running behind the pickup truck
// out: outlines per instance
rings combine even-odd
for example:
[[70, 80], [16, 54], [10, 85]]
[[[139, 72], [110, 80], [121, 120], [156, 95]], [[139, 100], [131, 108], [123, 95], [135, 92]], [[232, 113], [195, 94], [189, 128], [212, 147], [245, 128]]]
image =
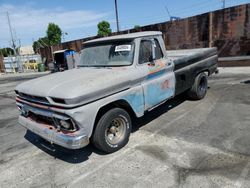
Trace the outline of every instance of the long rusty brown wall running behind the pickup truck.
[[[119, 34], [137, 31], [161, 31], [167, 50], [216, 46], [220, 57], [250, 55], [250, 4], [226, 8], [173, 22], [163, 22], [130, 29]], [[118, 33], [112, 33], [116, 35]], [[82, 43], [97, 38], [88, 37], [52, 46], [52, 51], [80, 51]], [[40, 49], [42, 57], [52, 60], [51, 48]]]

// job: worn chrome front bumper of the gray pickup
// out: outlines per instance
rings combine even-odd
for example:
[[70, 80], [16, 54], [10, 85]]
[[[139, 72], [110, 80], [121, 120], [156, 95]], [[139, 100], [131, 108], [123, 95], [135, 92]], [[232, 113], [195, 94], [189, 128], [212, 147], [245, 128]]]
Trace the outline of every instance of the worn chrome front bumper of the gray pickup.
[[77, 133], [64, 134], [52, 127], [37, 123], [22, 115], [19, 116], [18, 122], [45, 140], [68, 149], [79, 149], [89, 144], [89, 138], [85, 135]]

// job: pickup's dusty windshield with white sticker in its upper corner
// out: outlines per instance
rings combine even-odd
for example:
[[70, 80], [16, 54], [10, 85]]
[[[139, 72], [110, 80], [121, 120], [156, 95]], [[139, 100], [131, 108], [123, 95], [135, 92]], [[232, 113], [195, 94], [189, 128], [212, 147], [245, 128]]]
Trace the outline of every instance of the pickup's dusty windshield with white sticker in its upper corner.
[[79, 66], [128, 66], [133, 63], [134, 43], [111, 42], [86, 46], [81, 51]]

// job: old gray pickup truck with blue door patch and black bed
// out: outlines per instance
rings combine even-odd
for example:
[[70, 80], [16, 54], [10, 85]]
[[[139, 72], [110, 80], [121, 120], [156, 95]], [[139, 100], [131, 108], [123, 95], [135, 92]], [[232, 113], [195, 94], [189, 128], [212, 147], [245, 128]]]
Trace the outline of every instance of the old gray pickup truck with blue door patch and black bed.
[[19, 123], [51, 143], [89, 142], [112, 153], [129, 140], [132, 118], [186, 93], [199, 100], [217, 71], [217, 49], [166, 51], [161, 32], [94, 39], [77, 68], [18, 85]]

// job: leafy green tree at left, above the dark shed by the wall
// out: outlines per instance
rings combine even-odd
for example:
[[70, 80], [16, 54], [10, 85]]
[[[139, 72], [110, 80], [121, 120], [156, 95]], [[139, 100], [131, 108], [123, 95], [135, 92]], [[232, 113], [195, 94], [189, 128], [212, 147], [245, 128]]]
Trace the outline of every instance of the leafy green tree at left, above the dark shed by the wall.
[[54, 23], [49, 23], [47, 28], [47, 38], [50, 45], [61, 43], [62, 30]]

